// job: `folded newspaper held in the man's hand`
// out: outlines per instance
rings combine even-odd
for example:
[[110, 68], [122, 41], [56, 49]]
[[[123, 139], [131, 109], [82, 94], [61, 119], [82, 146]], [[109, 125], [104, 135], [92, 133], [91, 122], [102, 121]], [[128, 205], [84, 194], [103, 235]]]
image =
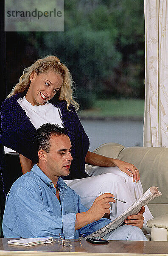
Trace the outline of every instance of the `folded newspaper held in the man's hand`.
[[162, 195], [160, 191], [158, 191], [158, 187], [152, 186], [150, 187], [141, 197], [134, 202], [127, 210], [125, 210], [120, 216], [118, 216], [115, 220], [107, 224], [106, 226], [102, 227], [101, 229], [93, 232], [88, 237], [103, 237], [108, 234], [110, 231], [119, 227], [129, 215], [136, 215], [142, 206], [148, 204], [154, 198]]

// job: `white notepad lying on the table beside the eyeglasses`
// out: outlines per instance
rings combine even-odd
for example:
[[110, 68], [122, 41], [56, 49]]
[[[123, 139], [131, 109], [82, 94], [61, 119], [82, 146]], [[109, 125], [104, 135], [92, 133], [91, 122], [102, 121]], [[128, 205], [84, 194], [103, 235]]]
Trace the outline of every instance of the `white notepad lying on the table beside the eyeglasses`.
[[26, 239], [18, 239], [18, 240], [9, 240], [8, 244], [12, 245], [22, 245], [22, 246], [32, 246], [36, 244], [48, 244], [55, 241], [53, 236], [51, 237], [43, 237], [43, 238], [26, 238]]

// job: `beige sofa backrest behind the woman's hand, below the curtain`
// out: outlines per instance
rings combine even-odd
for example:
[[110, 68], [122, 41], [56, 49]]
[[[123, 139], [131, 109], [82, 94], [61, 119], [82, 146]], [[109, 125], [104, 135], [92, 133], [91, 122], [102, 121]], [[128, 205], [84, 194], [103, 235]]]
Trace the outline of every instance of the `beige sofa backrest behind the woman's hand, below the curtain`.
[[159, 187], [162, 196], [152, 204], [168, 204], [168, 148], [128, 147], [120, 152], [118, 159], [137, 167], [143, 191], [151, 186]]

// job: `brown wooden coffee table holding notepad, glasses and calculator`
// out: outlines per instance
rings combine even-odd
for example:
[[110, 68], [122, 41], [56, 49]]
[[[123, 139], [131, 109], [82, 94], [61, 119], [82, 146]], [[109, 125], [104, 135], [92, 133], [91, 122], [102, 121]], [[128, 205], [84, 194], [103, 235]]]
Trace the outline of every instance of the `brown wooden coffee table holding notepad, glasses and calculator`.
[[84, 238], [81, 242], [72, 240], [71, 247], [53, 242], [30, 247], [8, 245], [11, 239], [0, 239], [0, 256], [168, 256], [168, 242], [166, 241], [109, 241], [109, 244], [90, 244]]

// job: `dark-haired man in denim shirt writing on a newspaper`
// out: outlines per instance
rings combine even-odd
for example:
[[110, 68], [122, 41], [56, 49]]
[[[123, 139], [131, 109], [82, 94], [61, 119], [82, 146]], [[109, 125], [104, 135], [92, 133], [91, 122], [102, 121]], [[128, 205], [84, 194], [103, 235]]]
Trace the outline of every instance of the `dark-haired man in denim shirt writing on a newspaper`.
[[[77, 239], [91, 234], [110, 222], [109, 202], [114, 195], [105, 193], [88, 210], [80, 197], [60, 176], [69, 175], [71, 143], [64, 128], [45, 124], [37, 130], [38, 163], [12, 185], [6, 198], [3, 217], [4, 237]], [[146, 240], [143, 226], [144, 207], [129, 216], [127, 224], [105, 236], [109, 240]], [[131, 224], [131, 225], [130, 225]], [[137, 226], [137, 227], [134, 227]], [[140, 227], [140, 228], [139, 228]]]

